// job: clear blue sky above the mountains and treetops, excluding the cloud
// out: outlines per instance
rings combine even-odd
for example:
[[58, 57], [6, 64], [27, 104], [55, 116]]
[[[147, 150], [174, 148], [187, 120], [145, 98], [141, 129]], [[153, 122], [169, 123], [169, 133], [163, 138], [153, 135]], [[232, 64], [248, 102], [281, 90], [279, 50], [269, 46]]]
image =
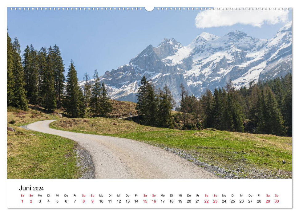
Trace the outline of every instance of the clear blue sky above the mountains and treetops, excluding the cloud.
[[[213, 11], [210, 11], [213, 12]], [[18, 37], [21, 50], [32, 44], [35, 49], [58, 45], [64, 64], [73, 59], [79, 80], [95, 69], [106, 70], [128, 64], [148, 45], [157, 46], [164, 37], [188, 45], [202, 32], [217, 36], [241, 30], [257, 38], [272, 38], [283, 23], [234, 24], [197, 28], [197, 10], [10, 10], [7, 27], [11, 38]], [[291, 10], [287, 19], [291, 20]]]

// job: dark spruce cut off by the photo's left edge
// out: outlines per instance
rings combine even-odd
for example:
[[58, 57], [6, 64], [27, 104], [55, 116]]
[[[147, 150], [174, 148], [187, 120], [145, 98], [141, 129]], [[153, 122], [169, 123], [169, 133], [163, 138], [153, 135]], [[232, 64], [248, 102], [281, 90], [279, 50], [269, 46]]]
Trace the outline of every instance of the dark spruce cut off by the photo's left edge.
[[7, 33], [7, 106], [13, 105], [14, 100], [14, 51], [10, 36]]

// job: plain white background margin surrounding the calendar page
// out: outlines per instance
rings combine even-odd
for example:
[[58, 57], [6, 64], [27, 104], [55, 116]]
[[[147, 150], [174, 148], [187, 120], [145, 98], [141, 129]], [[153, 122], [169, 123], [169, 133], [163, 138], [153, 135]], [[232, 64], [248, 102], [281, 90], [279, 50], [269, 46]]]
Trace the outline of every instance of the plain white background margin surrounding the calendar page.
[[[211, 4], [211, 5], [209, 5]], [[200, 1], [192, 1], [192, 0], [184, 0], [184, 1], [178, 1], [178, 0], [172, 0], [172, 1], [161, 1], [161, 0], [152, 0], [152, 1], [137, 1], [137, 0], [127, 0], [127, 1], [121, 1], [121, 0], [115, 0], [115, 1], [95, 1], [95, 0], [84, 0], [84, 1], [78, 1], [78, 0], [73, 0], [73, 1], [61, 1], [61, 0], [52, 0], [51, 2], [42, 2], [42, 1], [37, 1], [37, 0], [26, 0], [21, 1], [11, 1], [11, 2], [1, 2], [1, 27], [2, 33], [0, 34], [1, 36], [1, 43], [0, 43], [0, 50], [1, 52], [1, 71], [6, 70], [6, 60], [3, 60], [4, 56], [6, 55], [3, 53], [4, 50], [6, 50], [6, 39], [5, 39], [5, 34], [6, 34], [6, 23], [7, 23], [7, 10], [6, 7], [8, 6], [40, 6], [40, 7], [49, 7], [49, 6], [138, 6], [138, 7], [144, 7], [144, 6], [259, 6], [259, 7], [269, 7], [269, 6], [284, 6], [284, 7], [293, 7], [293, 35], [298, 35], [298, 30], [296, 27], [297, 20], [299, 17], [299, 14], [297, 14], [297, 7], [293, 5], [293, 1], [291, 0], [284, 0], [284, 1], [277, 1], [273, 0], [271, 2], [266, 2], [266, 1], [260, 1], [260, 0], [251, 0], [249, 2], [240, 2], [240, 1], [220, 1], [220, 0], [215, 0], [213, 2], [200, 2]], [[293, 37], [294, 38], [294, 37]], [[299, 49], [297, 41], [295, 40], [295, 43], [293, 41], [293, 59], [296, 59], [296, 54], [297, 50]], [[296, 68], [298, 67], [298, 61], [293, 61], [293, 83], [296, 83], [299, 81], [298, 74], [296, 74]], [[1, 92], [1, 98], [6, 98], [6, 83], [4, 82], [5, 79], [1, 79], [1, 84], [0, 84], [0, 92]], [[299, 87], [298, 84], [293, 84], [293, 92], [299, 92]], [[298, 94], [293, 93], [293, 110], [298, 109]], [[4, 103], [4, 102], [3, 102]], [[1, 112], [6, 113], [6, 106], [3, 105], [1, 107]], [[6, 127], [4, 125], [4, 122], [6, 121], [6, 118], [2, 115], [1, 116], [1, 127], [0, 131], [2, 132], [1, 137], [6, 137]], [[298, 114], [294, 111], [293, 112], [293, 122], [299, 121]], [[298, 128], [298, 125], [294, 123], [293, 129], [296, 131]], [[293, 132], [293, 151], [298, 151], [298, 147], [296, 146], [296, 142], [299, 140], [298, 135], [296, 132]], [[298, 209], [298, 205], [296, 202], [299, 202], [299, 198], [297, 197], [298, 192], [298, 186], [296, 183], [294, 183], [294, 180], [297, 179], [297, 171], [298, 168], [298, 158], [296, 156], [293, 156], [293, 209], [251, 209], [251, 210], [244, 210], [244, 209], [149, 209], [149, 210], [144, 210], [144, 209], [124, 209], [120, 211], [120, 209], [101, 209], [100, 211], [95, 211], [96, 209], [51, 209], [51, 210], [45, 210], [45, 209], [7, 209], [6, 208], [6, 181], [7, 181], [7, 160], [6, 160], [6, 138], [4, 138], [4, 141], [2, 143], [2, 156], [1, 156], [1, 184], [2, 184], [2, 192], [1, 192], [1, 211], [4, 211], [4, 213], [9, 213], [9, 214], [53, 214], [53, 213], [72, 213], [72, 214], [82, 214], [82, 213], [126, 213], [126, 214], [152, 214], [152, 213], [172, 213], [172, 214], [182, 214], [182, 213], [208, 213], [208, 214], [231, 214], [231, 213], [242, 213], [242, 214], [252, 214], [252, 213], [271, 213], [271, 214], [282, 214], [282, 213], [294, 213], [294, 209]], [[298, 153], [298, 152], [297, 152]], [[220, 179], [221, 180], [221, 179]], [[238, 179], [242, 180], [242, 179]], [[259, 179], [252, 179], [252, 180], [259, 180]], [[267, 210], [267, 211], [266, 211]]]

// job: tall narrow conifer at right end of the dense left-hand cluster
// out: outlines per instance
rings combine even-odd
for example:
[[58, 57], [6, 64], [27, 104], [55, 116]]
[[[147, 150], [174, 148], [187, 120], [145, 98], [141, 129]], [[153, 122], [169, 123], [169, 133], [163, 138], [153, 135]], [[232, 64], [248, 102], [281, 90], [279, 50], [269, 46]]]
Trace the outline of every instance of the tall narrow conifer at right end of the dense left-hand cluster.
[[56, 95], [57, 107], [61, 106], [61, 95], [64, 88], [64, 64], [61, 57], [59, 47], [55, 44], [53, 46], [53, 69], [54, 69], [54, 88]]

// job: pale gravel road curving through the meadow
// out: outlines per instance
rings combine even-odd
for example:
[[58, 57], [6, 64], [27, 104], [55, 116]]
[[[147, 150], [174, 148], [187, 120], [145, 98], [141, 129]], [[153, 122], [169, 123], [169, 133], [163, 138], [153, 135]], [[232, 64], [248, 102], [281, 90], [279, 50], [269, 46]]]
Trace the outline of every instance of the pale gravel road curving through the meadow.
[[169, 151], [135, 140], [52, 129], [55, 120], [27, 125], [33, 131], [77, 142], [90, 154], [95, 178], [217, 178]]

